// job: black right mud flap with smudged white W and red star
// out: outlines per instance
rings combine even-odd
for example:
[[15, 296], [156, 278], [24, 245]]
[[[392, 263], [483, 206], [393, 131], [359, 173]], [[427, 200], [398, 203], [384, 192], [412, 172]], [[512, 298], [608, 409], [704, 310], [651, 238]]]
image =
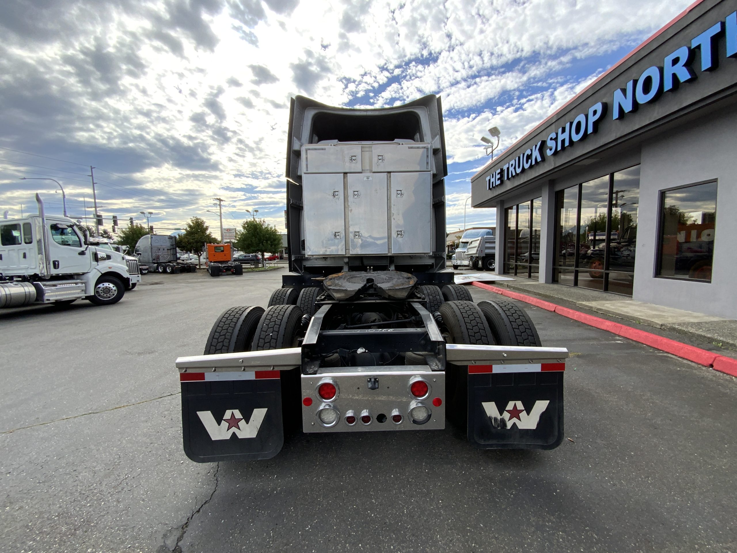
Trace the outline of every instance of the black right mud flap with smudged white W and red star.
[[563, 439], [564, 374], [469, 374], [469, 442], [481, 449], [558, 447]]

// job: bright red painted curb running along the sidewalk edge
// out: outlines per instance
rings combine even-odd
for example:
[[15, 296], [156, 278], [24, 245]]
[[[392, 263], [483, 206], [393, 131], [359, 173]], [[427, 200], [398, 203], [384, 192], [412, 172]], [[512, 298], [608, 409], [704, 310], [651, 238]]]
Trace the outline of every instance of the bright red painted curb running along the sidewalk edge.
[[499, 293], [502, 296], [519, 299], [520, 302], [526, 302], [530, 305], [542, 307], [542, 309], [553, 311], [558, 315], [562, 315], [568, 319], [573, 319], [574, 321], [579, 321], [583, 324], [589, 325], [590, 327], [607, 330], [607, 332], [622, 336], [623, 338], [628, 338], [629, 340], [639, 342], [640, 344], [660, 349], [660, 351], [670, 353], [671, 355], [675, 355], [682, 359], [693, 361], [699, 365], [708, 366], [716, 371], [737, 377], [737, 359], [724, 357], [718, 353], [710, 352], [706, 349], [701, 349], [700, 347], [683, 344], [682, 342], [649, 333], [645, 330], [628, 327], [626, 324], [607, 321], [607, 319], [601, 319], [601, 317], [589, 315], [588, 313], [581, 313], [580, 311], [563, 307], [562, 305], [545, 302], [542, 299], [527, 296], [523, 293], [512, 292], [497, 286], [483, 284], [482, 282], [471, 282], [471, 284], [478, 288], [483, 288], [483, 290], [488, 290], [489, 292]]

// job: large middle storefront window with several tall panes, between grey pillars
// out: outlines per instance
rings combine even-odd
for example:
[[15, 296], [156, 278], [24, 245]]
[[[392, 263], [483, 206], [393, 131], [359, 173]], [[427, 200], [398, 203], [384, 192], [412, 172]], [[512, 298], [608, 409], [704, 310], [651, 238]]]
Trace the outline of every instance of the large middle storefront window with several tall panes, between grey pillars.
[[639, 165], [559, 190], [553, 279], [632, 295], [639, 198]]

